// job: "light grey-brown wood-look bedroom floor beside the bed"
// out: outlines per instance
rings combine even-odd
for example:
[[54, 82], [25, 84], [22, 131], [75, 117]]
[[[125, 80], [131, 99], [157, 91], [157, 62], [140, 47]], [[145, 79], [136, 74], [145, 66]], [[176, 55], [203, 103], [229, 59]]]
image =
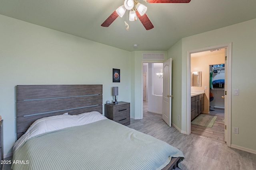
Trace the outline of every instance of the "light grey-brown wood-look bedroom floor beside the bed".
[[[150, 113], [147, 108], [144, 108], [143, 119], [131, 119], [128, 127], [180, 149], [185, 156], [183, 170], [256, 170], [256, 154], [232, 149], [224, 143], [194, 134], [182, 134], [175, 127], [169, 127], [162, 115]], [[10, 166], [4, 166], [4, 170], [10, 170]]]

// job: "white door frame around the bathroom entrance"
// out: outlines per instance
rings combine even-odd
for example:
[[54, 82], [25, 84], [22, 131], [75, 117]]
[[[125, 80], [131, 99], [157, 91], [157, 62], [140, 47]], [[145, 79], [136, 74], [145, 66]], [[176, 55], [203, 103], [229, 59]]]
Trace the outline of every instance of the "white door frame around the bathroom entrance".
[[212, 49], [222, 49], [222, 48], [227, 48], [227, 65], [225, 66], [225, 72], [227, 72], [227, 80], [225, 80], [225, 88], [227, 91], [227, 95], [225, 98], [227, 98], [227, 108], [225, 107], [227, 111], [227, 117], [225, 119], [227, 120], [226, 122], [226, 129], [227, 129], [227, 146], [231, 147], [231, 94], [232, 94], [232, 87], [231, 87], [231, 74], [232, 74], [232, 43], [226, 43], [222, 45], [215, 45], [211, 47], [205, 47], [202, 49], [195, 49], [195, 50], [190, 50], [187, 51], [187, 117], [186, 117], [186, 122], [187, 122], [187, 135], [191, 133], [191, 54], [192, 53], [200, 53], [203, 51], [209, 51]]

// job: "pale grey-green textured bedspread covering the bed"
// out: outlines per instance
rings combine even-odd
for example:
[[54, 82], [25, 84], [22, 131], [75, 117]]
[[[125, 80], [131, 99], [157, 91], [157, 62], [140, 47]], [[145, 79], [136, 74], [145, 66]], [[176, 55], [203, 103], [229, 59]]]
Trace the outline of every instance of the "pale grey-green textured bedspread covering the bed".
[[[26, 141], [13, 156], [14, 170], [156, 170], [183, 153], [112, 120], [68, 127]], [[18, 160], [18, 161], [17, 161]]]

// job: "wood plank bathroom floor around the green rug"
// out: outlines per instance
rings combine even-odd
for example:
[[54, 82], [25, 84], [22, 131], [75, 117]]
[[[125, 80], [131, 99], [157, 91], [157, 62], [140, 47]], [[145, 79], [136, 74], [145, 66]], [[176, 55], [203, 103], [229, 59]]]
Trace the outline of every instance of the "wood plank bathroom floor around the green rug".
[[191, 124], [191, 133], [194, 135], [198, 135], [200, 137], [204, 137], [213, 141], [218, 141], [220, 143], [226, 143], [224, 141], [224, 110], [223, 109], [212, 109], [207, 115], [217, 116], [217, 119], [212, 126], [204, 127], [200, 125]]

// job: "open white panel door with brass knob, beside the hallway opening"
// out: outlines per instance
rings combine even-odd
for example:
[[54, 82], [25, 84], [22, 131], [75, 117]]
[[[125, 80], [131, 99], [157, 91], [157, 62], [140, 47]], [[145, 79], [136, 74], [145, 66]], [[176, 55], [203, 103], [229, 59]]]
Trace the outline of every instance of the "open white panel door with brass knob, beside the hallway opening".
[[163, 64], [163, 120], [171, 126], [172, 123], [172, 59]]

